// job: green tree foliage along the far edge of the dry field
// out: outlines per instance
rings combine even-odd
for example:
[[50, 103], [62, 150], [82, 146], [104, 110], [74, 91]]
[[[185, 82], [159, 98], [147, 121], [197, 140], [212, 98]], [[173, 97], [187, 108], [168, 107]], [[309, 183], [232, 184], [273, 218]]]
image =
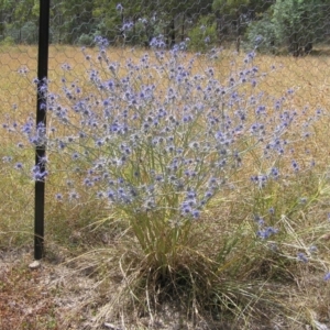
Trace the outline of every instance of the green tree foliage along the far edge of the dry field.
[[[218, 40], [235, 40], [239, 47], [239, 40], [250, 24], [245, 34], [250, 47], [261, 35], [263, 41], [258, 46], [262, 52], [287, 46], [290, 53], [299, 55], [310, 51], [315, 41], [324, 42], [328, 29], [324, 13], [329, 11], [329, 4], [324, 0], [123, 0], [120, 3], [122, 10], [118, 10], [119, 1], [114, 0], [54, 1], [51, 8], [52, 42], [81, 44], [81, 41], [87, 42], [86, 35], [98, 34], [117, 45], [143, 46], [152, 37], [163, 34], [167, 45], [173, 46], [188, 36], [189, 22], [191, 48], [200, 46], [200, 51], [205, 52], [208, 46], [198, 40], [198, 36], [204, 36], [198, 31], [199, 18], [213, 16], [213, 22], [201, 19], [208, 20], [207, 34], [211, 44], [217, 41], [218, 34]], [[35, 43], [33, 24], [37, 24], [38, 6], [36, 0], [0, 0], [2, 38], [11, 36], [15, 43]], [[147, 23], [141, 23], [141, 20]], [[123, 24], [128, 22], [133, 22], [134, 26], [123, 33]], [[217, 33], [213, 25], [217, 25]], [[29, 35], [30, 32], [32, 35]]]

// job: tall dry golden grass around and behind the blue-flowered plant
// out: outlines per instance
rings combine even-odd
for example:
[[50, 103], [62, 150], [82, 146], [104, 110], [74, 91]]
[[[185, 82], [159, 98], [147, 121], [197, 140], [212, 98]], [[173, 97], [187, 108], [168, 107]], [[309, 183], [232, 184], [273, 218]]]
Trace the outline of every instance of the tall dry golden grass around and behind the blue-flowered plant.
[[[88, 53], [96, 55], [97, 51], [88, 50]], [[144, 53], [143, 50], [110, 48], [109, 57], [119, 63], [128, 58], [138, 63]], [[235, 63], [242, 62], [243, 57], [222, 52], [212, 63], [216, 77], [220, 80], [228, 77], [237, 69]], [[53, 87], [57, 86], [58, 90], [61, 88], [57, 81], [61, 80], [61, 67], [64, 63], [73, 67], [73, 79], [79, 79], [82, 90], [88, 91], [89, 84], [86, 77], [88, 64], [79, 48], [69, 46], [51, 46], [50, 79], [54, 81]], [[105, 296], [109, 283], [120, 277], [121, 280], [129, 283], [129, 286], [120, 288], [118, 299], [127, 297], [130, 300], [128, 297], [132, 298], [131, 288], [135, 287], [134, 295], [138, 297], [135, 298], [141, 306], [146, 305], [148, 311], [154, 311], [152, 307], [158, 304], [156, 298], [152, 302], [148, 301], [153, 297], [152, 294], [156, 296], [157, 290], [164, 290], [166, 295], [179, 294], [184, 305], [189, 305], [184, 301], [185, 299], [191, 300], [196, 305], [189, 305], [189, 308], [195, 308], [195, 311], [202, 309], [202, 302], [207, 311], [211, 310], [213, 317], [227, 318], [227, 312], [231, 311], [238, 324], [246, 329], [258, 317], [261, 319], [265, 317], [256, 316], [257, 312], [267, 314], [268, 310], [273, 310], [274, 314], [285, 310], [290, 329], [300, 329], [301, 324], [307, 323], [316, 327], [316, 321], [326, 322], [329, 318], [329, 287], [323, 285], [322, 274], [330, 267], [328, 243], [330, 58], [263, 55], [255, 58], [255, 64], [260, 67], [260, 72], [268, 73], [257, 88], [271, 97], [270, 103], [272, 98], [275, 101], [284, 91], [294, 88], [295, 95], [289, 98], [287, 107], [297, 110], [308, 107], [312, 113], [319, 108], [323, 109], [322, 120], [314, 125], [312, 136], [306, 143], [299, 141], [294, 144], [293, 154], [301, 155], [298, 161], [305, 168], [304, 175], [282, 186], [274, 185], [268, 188], [268, 193], [261, 194], [258, 189], [251, 189], [249, 184], [240, 185], [243, 175], [262, 173], [267, 165], [258, 161], [258, 155], [251, 153], [248, 156], [250, 166], [233, 177], [233, 182], [238, 183], [240, 188], [228, 189], [216, 199], [200, 224], [193, 230], [189, 244], [183, 253], [182, 263], [186, 268], [180, 274], [182, 278], [176, 278], [177, 274], [174, 274], [170, 278], [172, 284], [164, 282], [160, 285], [157, 278], [152, 278], [152, 273], [146, 272], [146, 276], [140, 277], [140, 273], [145, 272], [141, 271], [139, 264], [143, 260], [143, 254], [139, 249], [130, 251], [130, 246], [136, 246], [136, 242], [127, 219], [120, 213], [111, 213], [102, 201], [91, 198], [84, 187], [78, 191], [81, 196], [79, 204], [56, 201], [55, 193], [68, 189], [67, 182], [62, 175], [64, 170], [56, 173], [47, 182], [46, 248], [52, 243], [58, 250], [69, 250], [76, 256], [81, 253], [88, 256], [91, 255], [89, 250], [92, 246], [91, 257], [78, 256], [77, 261], [78, 263], [80, 261], [81, 267], [94, 267], [96, 273], [103, 274], [98, 287], [101, 296]], [[36, 76], [36, 50], [29, 46], [9, 47], [0, 52], [0, 65], [1, 122], [8, 120], [9, 113], [11, 118], [21, 122], [28, 113], [35, 112], [35, 90], [32, 80]], [[194, 69], [199, 72], [208, 65], [209, 58], [200, 56]], [[23, 67], [29, 72], [22, 76], [18, 70]], [[166, 81], [163, 82], [166, 86]], [[246, 89], [245, 92], [249, 95], [251, 91]], [[301, 118], [307, 120], [311, 112], [306, 111]], [[299, 131], [295, 132], [295, 128], [292, 133], [292, 139], [299, 135]], [[0, 139], [0, 158], [8, 155], [12, 155], [13, 158], [23, 156], [28, 163], [33, 164], [34, 156], [31, 151], [22, 150], [18, 153], [15, 145], [19, 140], [6, 134], [1, 134]], [[315, 161], [315, 166], [309, 170], [311, 161]], [[289, 160], [287, 163], [284, 162], [283, 169], [290, 166], [288, 162]], [[0, 245], [1, 248], [31, 245], [33, 183], [18, 175], [12, 163], [3, 162], [1, 173]], [[280, 237], [277, 241], [274, 239], [274, 246], [275, 243], [279, 246], [278, 254], [274, 254], [274, 251], [266, 249], [264, 242], [255, 239], [256, 227], [251, 221], [254, 213], [266, 215], [270, 207], [274, 206], [278, 210], [276, 217], [267, 216], [267, 220], [270, 224], [280, 228]], [[311, 246], [316, 250], [310, 251]], [[56, 253], [57, 248], [53, 253]], [[297, 252], [308, 255], [309, 262], [299, 263]], [[113, 262], [102, 263], [101, 260], [109, 255], [109, 260]], [[191, 266], [188, 266], [191, 260], [198, 270], [196, 274], [189, 268]], [[114, 265], [116, 262], [119, 262], [120, 266], [131, 266], [132, 271], [118, 267]], [[146, 286], [150, 286], [150, 292], [145, 296], [142, 290]], [[185, 290], [191, 293], [191, 296], [185, 296]], [[202, 297], [205, 301], [196, 299], [196, 296]], [[105, 299], [102, 301], [105, 307], [99, 314], [100, 320], [110, 314], [113, 307], [111, 304], [116, 305], [119, 301], [114, 299], [110, 304], [107, 299], [105, 302]], [[268, 304], [268, 307], [263, 310], [260, 301], [265, 306]], [[213, 308], [215, 306], [217, 307]], [[221, 310], [219, 306], [223, 309]], [[189, 312], [194, 314], [193, 310]]]

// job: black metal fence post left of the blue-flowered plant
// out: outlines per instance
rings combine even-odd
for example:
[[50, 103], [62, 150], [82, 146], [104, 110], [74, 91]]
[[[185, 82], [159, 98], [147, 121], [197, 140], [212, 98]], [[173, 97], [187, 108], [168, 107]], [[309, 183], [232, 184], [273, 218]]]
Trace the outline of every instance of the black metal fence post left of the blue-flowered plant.
[[[44, 124], [46, 128], [47, 107], [47, 74], [48, 74], [48, 43], [50, 43], [50, 0], [40, 0], [38, 22], [38, 55], [37, 55], [37, 101], [36, 127]], [[35, 166], [40, 173], [45, 172], [46, 145], [35, 148]], [[45, 209], [45, 182], [35, 182], [34, 197], [34, 258], [41, 260], [44, 254], [44, 209]]]

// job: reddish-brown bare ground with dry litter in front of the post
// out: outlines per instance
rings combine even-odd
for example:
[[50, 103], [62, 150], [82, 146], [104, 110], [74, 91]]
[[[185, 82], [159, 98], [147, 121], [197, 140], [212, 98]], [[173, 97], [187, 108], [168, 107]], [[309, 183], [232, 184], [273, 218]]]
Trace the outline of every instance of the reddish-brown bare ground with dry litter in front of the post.
[[[91, 330], [91, 329], [213, 329], [213, 330], [328, 330], [328, 324], [318, 321], [314, 327], [300, 324], [292, 328], [284, 316], [271, 321], [258, 321], [254, 326], [231, 326], [224, 322], [199, 320], [195, 323], [173, 308], [165, 308], [161, 317], [142, 317], [134, 323], [98, 322], [96, 315], [101, 299], [96, 279], [58, 257], [45, 258], [40, 267], [31, 270], [32, 249], [0, 250], [0, 329], [33, 330]], [[243, 328], [242, 328], [243, 327]]]

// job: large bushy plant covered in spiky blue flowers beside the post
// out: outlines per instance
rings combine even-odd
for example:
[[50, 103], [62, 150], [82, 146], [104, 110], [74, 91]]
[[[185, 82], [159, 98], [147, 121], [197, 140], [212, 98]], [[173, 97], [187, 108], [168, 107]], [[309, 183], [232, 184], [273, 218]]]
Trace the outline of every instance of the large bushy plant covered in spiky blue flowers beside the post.
[[[217, 204], [238, 173], [245, 172], [244, 158], [256, 154], [267, 165], [265, 173], [251, 176], [257, 189], [277, 180], [278, 160], [288, 147], [285, 135], [297, 112], [284, 111], [282, 98], [271, 114], [268, 99], [256, 91], [264, 74], [254, 65], [254, 53], [224, 78], [212, 66], [200, 70], [201, 55], [186, 53], [184, 43], [165, 51], [162, 35], [152, 40], [152, 54], [125, 64], [111, 62], [106, 38], [96, 37], [96, 56], [82, 48], [87, 77], [77, 79], [64, 64], [61, 92], [53, 92], [50, 81], [41, 85], [48, 127], [35, 128], [29, 118], [13, 131], [33, 147], [46, 145], [48, 157], [40, 165], [61, 157], [76, 178], [67, 196], [56, 194], [57, 200], [78, 200], [75, 185], [82, 186], [124, 215], [147, 258], [167, 267], [179, 262], [190, 228], [212, 200]], [[216, 63], [218, 51], [207, 56]], [[53, 163], [43, 173], [33, 166], [32, 178], [55, 173]], [[297, 170], [298, 164], [293, 167]], [[258, 230], [257, 235], [276, 232]]]

